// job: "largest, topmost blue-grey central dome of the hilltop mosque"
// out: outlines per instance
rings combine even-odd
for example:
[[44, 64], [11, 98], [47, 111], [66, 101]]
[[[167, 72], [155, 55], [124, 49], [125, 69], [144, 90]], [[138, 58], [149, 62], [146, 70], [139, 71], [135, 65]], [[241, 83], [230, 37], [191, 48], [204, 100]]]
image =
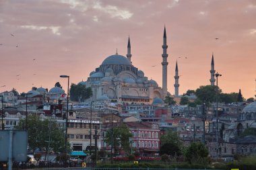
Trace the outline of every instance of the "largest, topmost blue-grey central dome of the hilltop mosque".
[[131, 65], [131, 62], [125, 56], [118, 54], [108, 56], [103, 62], [102, 65]]

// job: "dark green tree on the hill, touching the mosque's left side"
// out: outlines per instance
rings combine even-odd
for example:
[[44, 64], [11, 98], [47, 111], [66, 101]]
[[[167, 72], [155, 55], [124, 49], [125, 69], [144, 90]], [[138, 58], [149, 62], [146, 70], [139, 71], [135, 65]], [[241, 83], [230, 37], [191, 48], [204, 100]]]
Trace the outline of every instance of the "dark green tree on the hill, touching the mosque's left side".
[[84, 101], [92, 97], [92, 88], [86, 87], [86, 85], [75, 85], [72, 83], [69, 93], [71, 101]]

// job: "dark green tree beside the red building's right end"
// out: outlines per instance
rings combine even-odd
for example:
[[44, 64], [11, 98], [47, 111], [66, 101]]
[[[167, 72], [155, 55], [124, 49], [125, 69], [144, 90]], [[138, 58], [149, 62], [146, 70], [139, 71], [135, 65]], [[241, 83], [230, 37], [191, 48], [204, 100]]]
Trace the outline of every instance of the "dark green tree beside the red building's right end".
[[171, 130], [168, 130], [160, 137], [160, 140], [160, 155], [167, 154], [172, 155], [173, 157], [176, 155], [181, 155], [182, 142], [177, 132], [172, 132]]

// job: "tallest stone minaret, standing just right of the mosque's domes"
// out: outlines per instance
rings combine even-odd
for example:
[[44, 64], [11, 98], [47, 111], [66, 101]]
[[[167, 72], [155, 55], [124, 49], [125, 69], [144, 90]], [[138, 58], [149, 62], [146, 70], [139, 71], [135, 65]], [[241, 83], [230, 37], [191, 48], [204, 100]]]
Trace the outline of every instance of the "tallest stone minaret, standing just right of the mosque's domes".
[[166, 97], [167, 95], [167, 44], [166, 44], [166, 31], [164, 26], [164, 38], [163, 38], [163, 45], [162, 45], [162, 98]]

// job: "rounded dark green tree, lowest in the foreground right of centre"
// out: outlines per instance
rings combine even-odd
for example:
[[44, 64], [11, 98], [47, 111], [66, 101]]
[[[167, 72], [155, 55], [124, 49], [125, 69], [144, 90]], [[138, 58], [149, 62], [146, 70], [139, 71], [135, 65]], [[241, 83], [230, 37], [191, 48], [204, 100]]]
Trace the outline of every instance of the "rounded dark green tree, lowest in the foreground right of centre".
[[193, 142], [185, 148], [184, 156], [189, 163], [208, 163], [209, 152], [201, 142]]

